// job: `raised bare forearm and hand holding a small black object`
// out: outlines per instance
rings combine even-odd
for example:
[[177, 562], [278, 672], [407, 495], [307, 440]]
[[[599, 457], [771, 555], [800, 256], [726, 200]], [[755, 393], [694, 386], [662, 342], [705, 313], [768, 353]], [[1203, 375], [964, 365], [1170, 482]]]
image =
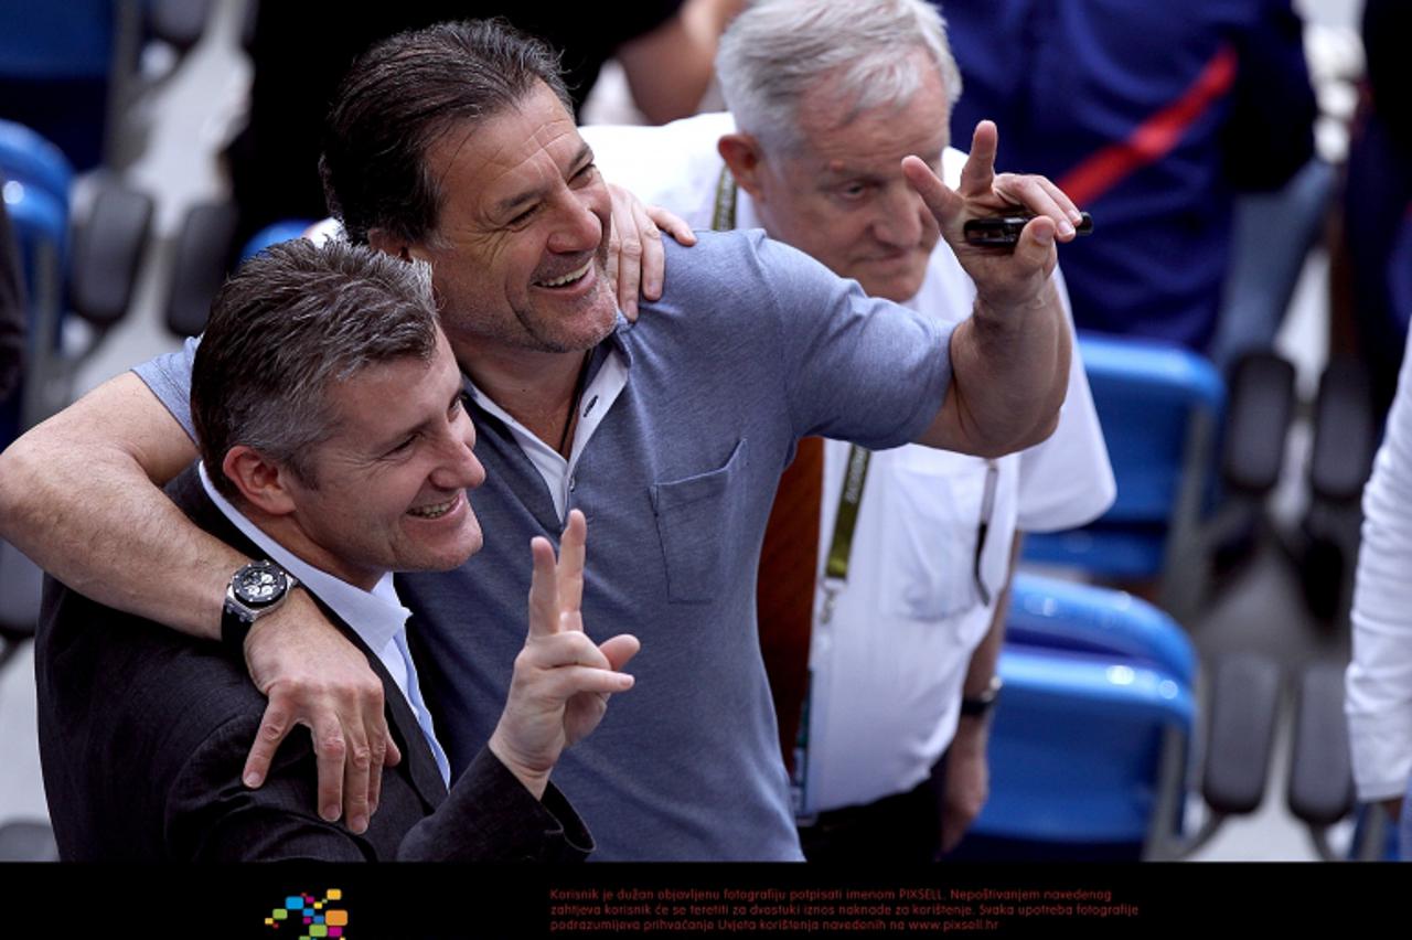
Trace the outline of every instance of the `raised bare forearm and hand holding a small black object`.
[[[902, 169], [936, 217], [942, 237], [976, 282], [976, 306], [952, 333], [952, 384], [918, 443], [1000, 456], [1049, 436], [1069, 381], [1072, 336], [1052, 278], [1055, 240], [1075, 236], [1077, 209], [1043, 176], [995, 174], [998, 137], [976, 126], [957, 189], [919, 158]], [[966, 220], [1021, 205], [1036, 217], [1014, 253], [966, 243]]]

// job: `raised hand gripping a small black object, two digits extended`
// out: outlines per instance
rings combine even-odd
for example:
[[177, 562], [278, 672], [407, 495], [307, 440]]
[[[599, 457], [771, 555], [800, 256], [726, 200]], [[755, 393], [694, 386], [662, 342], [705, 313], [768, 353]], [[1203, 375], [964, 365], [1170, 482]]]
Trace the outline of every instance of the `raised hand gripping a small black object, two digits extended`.
[[[998, 144], [995, 124], [980, 121], [956, 189], [942, 182], [918, 157], [904, 158], [902, 172], [922, 196], [966, 274], [976, 282], [977, 295], [993, 306], [1031, 305], [1041, 296], [1058, 261], [1055, 239], [1070, 241], [1080, 213], [1073, 200], [1045, 176], [995, 174]], [[1021, 231], [1014, 253], [966, 241], [963, 226], [967, 220], [1000, 215], [1015, 206], [1028, 209], [1035, 217]]]

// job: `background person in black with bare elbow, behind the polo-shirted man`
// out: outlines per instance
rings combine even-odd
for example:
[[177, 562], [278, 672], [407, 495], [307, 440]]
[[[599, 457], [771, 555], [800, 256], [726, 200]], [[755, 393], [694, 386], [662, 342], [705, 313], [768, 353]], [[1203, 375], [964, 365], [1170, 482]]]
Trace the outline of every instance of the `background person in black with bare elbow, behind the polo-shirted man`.
[[377, 40], [446, 20], [500, 16], [559, 51], [576, 107], [603, 64], [617, 58], [638, 109], [661, 123], [695, 113], [712, 80], [716, 38], [741, 6], [648, 0], [616, 4], [606, 14], [597, 4], [544, 0], [412, 0], [330, 17], [318, 4], [260, 3], [250, 47], [250, 121], [226, 150], [240, 212], [236, 244], [280, 219], [328, 215], [318, 172], [323, 114], [339, 78]]

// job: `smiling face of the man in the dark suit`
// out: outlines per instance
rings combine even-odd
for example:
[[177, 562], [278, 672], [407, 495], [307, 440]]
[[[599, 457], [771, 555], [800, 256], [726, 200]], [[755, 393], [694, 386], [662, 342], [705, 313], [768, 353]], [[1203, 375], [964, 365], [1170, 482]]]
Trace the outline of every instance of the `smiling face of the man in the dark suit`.
[[312, 454], [313, 486], [284, 474], [309, 562], [371, 587], [384, 572], [446, 570], [480, 549], [466, 491], [486, 471], [460, 382], [438, 332], [429, 363], [370, 366], [325, 392], [336, 432]]

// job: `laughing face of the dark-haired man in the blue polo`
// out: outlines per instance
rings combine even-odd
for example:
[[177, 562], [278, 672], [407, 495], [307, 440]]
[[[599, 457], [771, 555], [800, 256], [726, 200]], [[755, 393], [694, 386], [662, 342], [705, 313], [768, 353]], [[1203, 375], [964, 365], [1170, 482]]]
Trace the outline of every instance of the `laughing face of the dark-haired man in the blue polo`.
[[443, 193], [432, 264], [457, 353], [569, 353], [617, 316], [607, 281], [611, 202], [573, 119], [545, 85], [517, 107], [456, 124], [426, 152]]

